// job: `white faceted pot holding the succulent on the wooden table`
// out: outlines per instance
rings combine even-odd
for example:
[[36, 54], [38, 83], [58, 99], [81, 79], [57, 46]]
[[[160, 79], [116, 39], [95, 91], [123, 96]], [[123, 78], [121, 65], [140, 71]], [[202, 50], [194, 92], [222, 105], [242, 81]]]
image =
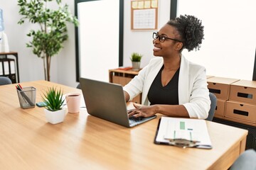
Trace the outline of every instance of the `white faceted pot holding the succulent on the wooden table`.
[[63, 120], [65, 119], [65, 115], [66, 115], [65, 108], [63, 108], [59, 111], [48, 111], [45, 108], [44, 111], [46, 113], [46, 120], [48, 121], [48, 123], [51, 123], [51, 124], [62, 123]]

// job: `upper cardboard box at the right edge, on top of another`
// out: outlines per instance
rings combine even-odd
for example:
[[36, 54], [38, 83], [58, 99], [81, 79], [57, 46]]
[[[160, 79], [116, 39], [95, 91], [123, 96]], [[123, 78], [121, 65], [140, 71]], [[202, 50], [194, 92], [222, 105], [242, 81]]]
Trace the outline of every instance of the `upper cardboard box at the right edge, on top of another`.
[[230, 84], [230, 101], [256, 104], [256, 81], [240, 80]]

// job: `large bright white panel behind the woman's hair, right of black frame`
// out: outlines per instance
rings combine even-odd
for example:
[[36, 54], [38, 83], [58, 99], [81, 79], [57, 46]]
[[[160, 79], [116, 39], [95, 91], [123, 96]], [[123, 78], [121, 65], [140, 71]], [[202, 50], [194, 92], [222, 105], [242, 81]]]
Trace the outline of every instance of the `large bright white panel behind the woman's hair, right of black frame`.
[[205, 66], [208, 75], [252, 80], [255, 7], [255, 0], [178, 1], [178, 13], [200, 18], [205, 33], [201, 49], [196, 52], [184, 50], [183, 55]]

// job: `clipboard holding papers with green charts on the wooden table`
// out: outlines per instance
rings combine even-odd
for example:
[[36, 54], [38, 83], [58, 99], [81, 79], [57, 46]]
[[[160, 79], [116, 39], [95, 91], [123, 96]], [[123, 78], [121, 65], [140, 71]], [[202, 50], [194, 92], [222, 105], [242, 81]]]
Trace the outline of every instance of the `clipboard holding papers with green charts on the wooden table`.
[[[175, 131], [174, 124], [183, 123], [182, 128], [183, 132], [187, 132], [189, 135], [196, 136], [195, 138], [186, 137], [186, 133], [181, 135], [175, 135], [174, 133], [170, 133], [170, 131]], [[171, 126], [168, 126], [171, 125]], [[188, 127], [186, 127], [186, 125]], [[196, 131], [191, 133], [191, 129], [194, 131], [196, 129], [200, 129], [200, 131]], [[192, 131], [193, 131], [192, 130]], [[196, 135], [195, 135], [196, 134]], [[184, 136], [183, 136], [184, 135]], [[212, 145], [210, 142], [210, 137], [208, 135], [208, 130], [206, 126], [206, 120], [198, 120], [198, 119], [186, 119], [186, 118], [169, 118], [162, 117], [159, 119], [159, 123], [156, 129], [156, 135], [154, 137], [154, 144], [156, 145], [170, 145], [176, 147], [194, 147], [200, 149], [212, 149]]]

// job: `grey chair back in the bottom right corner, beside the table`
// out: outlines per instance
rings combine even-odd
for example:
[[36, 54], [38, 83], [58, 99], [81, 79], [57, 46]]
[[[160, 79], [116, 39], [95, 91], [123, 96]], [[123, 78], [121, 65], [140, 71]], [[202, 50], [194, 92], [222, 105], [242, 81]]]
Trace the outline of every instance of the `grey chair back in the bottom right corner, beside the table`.
[[247, 149], [240, 154], [229, 170], [255, 170], [256, 169], [256, 152], [254, 149]]

